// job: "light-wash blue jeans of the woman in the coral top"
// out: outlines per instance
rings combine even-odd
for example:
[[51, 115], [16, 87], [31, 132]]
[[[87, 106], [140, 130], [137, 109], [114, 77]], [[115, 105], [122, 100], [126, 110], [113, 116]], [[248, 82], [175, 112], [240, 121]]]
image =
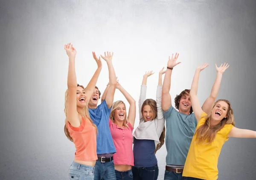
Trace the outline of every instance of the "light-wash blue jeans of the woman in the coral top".
[[94, 167], [73, 162], [68, 170], [70, 180], [93, 180]]

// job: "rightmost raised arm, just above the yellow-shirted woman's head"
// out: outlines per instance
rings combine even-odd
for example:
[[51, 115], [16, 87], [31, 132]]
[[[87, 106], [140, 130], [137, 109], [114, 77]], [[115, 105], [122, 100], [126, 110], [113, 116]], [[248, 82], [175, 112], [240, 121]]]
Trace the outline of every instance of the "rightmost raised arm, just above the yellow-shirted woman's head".
[[204, 101], [204, 104], [202, 106], [203, 111], [207, 114], [210, 113], [210, 111], [212, 109], [212, 105], [214, 104], [214, 102], [218, 96], [218, 91], [221, 87], [222, 75], [223, 75], [224, 71], [229, 67], [229, 65], [224, 63], [224, 65], [221, 64], [220, 67], [217, 67], [217, 65], [215, 64], [215, 67], [217, 70], [215, 82], [212, 86], [212, 91], [211, 91], [210, 96]]

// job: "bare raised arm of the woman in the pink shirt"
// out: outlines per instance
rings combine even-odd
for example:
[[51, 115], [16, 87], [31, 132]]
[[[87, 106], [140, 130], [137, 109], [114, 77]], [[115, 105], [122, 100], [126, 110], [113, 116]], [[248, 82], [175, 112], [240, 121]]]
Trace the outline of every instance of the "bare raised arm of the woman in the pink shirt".
[[131, 97], [131, 95], [119, 84], [119, 82], [116, 83], [116, 89], [118, 89], [126, 98], [128, 103], [130, 104], [129, 107], [129, 113], [128, 113], [128, 121], [131, 124], [132, 127], [134, 127], [134, 121], [136, 117], [136, 101], [134, 98]]

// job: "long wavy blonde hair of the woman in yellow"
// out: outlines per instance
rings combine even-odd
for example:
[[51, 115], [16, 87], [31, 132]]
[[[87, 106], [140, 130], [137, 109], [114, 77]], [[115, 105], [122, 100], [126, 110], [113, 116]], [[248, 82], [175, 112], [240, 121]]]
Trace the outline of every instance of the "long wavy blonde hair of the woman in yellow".
[[210, 112], [208, 115], [204, 116], [203, 118], [206, 119], [205, 123], [202, 126], [198, 127], [198, 129], [195, 131], [197, 143], [204, 142], [206, 144], [210, 144], [215, 139], [217, 132], [221, 130], [226, 124], [232, 124], [233, 126], [235, 126], [235, 118], [233, 109], [230, 105], [230, 101], [227, 101], [226, 99], [219, 99], [214, 103], [212, 109], [219, 101], [224, 101], [228, 105], [227, 118], [223, 118], [221, 122], [216, 126], [210, 126], [212, 113]]

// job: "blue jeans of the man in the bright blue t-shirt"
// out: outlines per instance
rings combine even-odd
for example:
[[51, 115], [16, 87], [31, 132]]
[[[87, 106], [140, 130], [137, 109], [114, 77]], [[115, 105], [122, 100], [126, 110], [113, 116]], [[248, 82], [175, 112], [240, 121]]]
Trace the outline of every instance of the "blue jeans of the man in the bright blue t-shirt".
[[96, 160], [94, 166], [94, 180], [116, 180], [114, 161], [101, 163]]

